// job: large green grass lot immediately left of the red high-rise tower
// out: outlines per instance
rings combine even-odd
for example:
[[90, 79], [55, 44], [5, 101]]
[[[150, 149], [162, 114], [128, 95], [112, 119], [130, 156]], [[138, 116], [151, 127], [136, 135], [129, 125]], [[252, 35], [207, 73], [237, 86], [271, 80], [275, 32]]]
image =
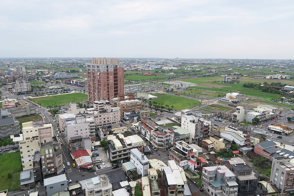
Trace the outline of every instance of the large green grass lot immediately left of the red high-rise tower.
[[48, 107], [49, 105], [65, 105], [75, 102], [83, 102], [88, 100], [88, 95], [83, 93], [71, 93], [64, 95], [54, 95], [40, 98], [32, 98], [31, 101], [39, 103], [43, 107]]

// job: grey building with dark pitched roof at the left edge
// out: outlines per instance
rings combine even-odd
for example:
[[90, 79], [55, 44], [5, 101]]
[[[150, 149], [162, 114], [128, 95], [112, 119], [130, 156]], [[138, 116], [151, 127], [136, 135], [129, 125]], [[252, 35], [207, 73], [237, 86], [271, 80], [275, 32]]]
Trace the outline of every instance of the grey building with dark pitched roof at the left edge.
[[19, 133], [19, 121], [7, 110], [2, 110], [0, 108], [0, 138], [6, 139], [10, 137], [10, 135], [16, 135]]

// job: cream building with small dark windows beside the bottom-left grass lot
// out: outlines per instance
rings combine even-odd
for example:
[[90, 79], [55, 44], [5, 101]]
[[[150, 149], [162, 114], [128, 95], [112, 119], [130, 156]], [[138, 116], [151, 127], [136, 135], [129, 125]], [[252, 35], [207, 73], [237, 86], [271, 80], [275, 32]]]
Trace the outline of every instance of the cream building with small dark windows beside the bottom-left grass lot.
[[33, 169], [35, 151], [40, 151], [39, 141], [37, 139], [20, 141], [19, 148], [21, 153], [21, 164], [23, 170]]

